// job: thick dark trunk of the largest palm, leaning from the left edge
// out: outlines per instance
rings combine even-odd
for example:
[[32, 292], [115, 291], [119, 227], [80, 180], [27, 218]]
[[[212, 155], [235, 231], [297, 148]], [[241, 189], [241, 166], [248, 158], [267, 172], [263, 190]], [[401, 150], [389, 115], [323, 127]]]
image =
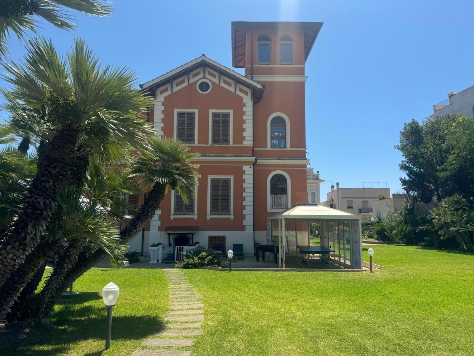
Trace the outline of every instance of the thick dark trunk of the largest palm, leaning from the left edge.
[[78, 138], [79, 130], [71, 124], [48, 142], [38, 162], [36, 175], [23, 198], [23, 207], [0, 246], [0, 287], [41, 241], [55, 211], [60, 188], [69, 177]]

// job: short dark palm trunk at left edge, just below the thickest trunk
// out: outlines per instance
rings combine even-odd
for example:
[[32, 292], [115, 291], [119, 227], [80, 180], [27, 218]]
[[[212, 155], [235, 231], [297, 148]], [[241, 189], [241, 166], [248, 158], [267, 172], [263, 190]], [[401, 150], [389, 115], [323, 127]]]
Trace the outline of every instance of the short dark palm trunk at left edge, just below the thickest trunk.
[[54, 244], [46, 242], [38, 244], [35, 251], [28, 255], [27, 260], [10, 273], [8, 279], [0, 288], [0, 321], [5, 319], [21, 290], [33, 278], [36, 271], [43, 266], [47, 256], [54, 252]]

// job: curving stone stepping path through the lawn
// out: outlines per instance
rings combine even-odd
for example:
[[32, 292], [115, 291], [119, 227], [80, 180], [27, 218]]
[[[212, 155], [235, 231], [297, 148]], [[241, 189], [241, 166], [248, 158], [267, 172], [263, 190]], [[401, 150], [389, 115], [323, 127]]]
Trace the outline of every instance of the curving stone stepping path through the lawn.
[[136, 350], [131, 356], [190, 356], [189, 349], [201, 335], [204, 320], [204, 304], [201, 296], [181, 270], [164, 270], [170, 295], [169, 310], [166, 311], [163, 329], [143, 342], [142, 350]]

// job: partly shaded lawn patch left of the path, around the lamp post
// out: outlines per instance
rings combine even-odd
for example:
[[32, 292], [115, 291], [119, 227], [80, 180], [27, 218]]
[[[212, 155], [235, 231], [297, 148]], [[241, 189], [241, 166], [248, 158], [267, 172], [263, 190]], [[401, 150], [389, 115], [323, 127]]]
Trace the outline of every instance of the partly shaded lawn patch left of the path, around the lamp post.
[[[112, 343], [107, 356], [130, 356], [145, 337], [159, 330], [168, 306], [162, 270], [92, 269], [74, 283], [81, 296], [55, 307], [51, 328], [35, 328], [0, 355], [102, 355], [107, 309], [100, 291], [110, 281], [120, 288], [113, 308]], [[3, 353], [4, 352], [4, 353]]]

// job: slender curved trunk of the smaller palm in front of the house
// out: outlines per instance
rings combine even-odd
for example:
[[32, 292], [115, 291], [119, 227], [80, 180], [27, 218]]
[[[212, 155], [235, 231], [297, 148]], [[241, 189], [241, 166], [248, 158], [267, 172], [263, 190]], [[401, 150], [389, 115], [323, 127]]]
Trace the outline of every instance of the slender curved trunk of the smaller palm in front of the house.
[[[138, 234], [138, 232], [143, 229], [146, 223], [152, 219], [156, 210], [160, 208], [165, 192], [166, 185], [155, 183], [153, 188], [146, 195], [145, 201], [142, 206], [140, 206], [137, 215], [134, 216], [129, 225], [120, 231], [120, 240], [122, 241], [122, 244], [128, 244]], [[43, 317], [49, 316], [62, 293], [75, 280], [106, 257], [107, 253], [102, 249], [99, 249], [90, 255], [81, 254], [73, 268], [71, 268], [71, 270], [64, 276], [61, 287], [55, 289], [55, 292], [50, 295], [43, 310]]]

